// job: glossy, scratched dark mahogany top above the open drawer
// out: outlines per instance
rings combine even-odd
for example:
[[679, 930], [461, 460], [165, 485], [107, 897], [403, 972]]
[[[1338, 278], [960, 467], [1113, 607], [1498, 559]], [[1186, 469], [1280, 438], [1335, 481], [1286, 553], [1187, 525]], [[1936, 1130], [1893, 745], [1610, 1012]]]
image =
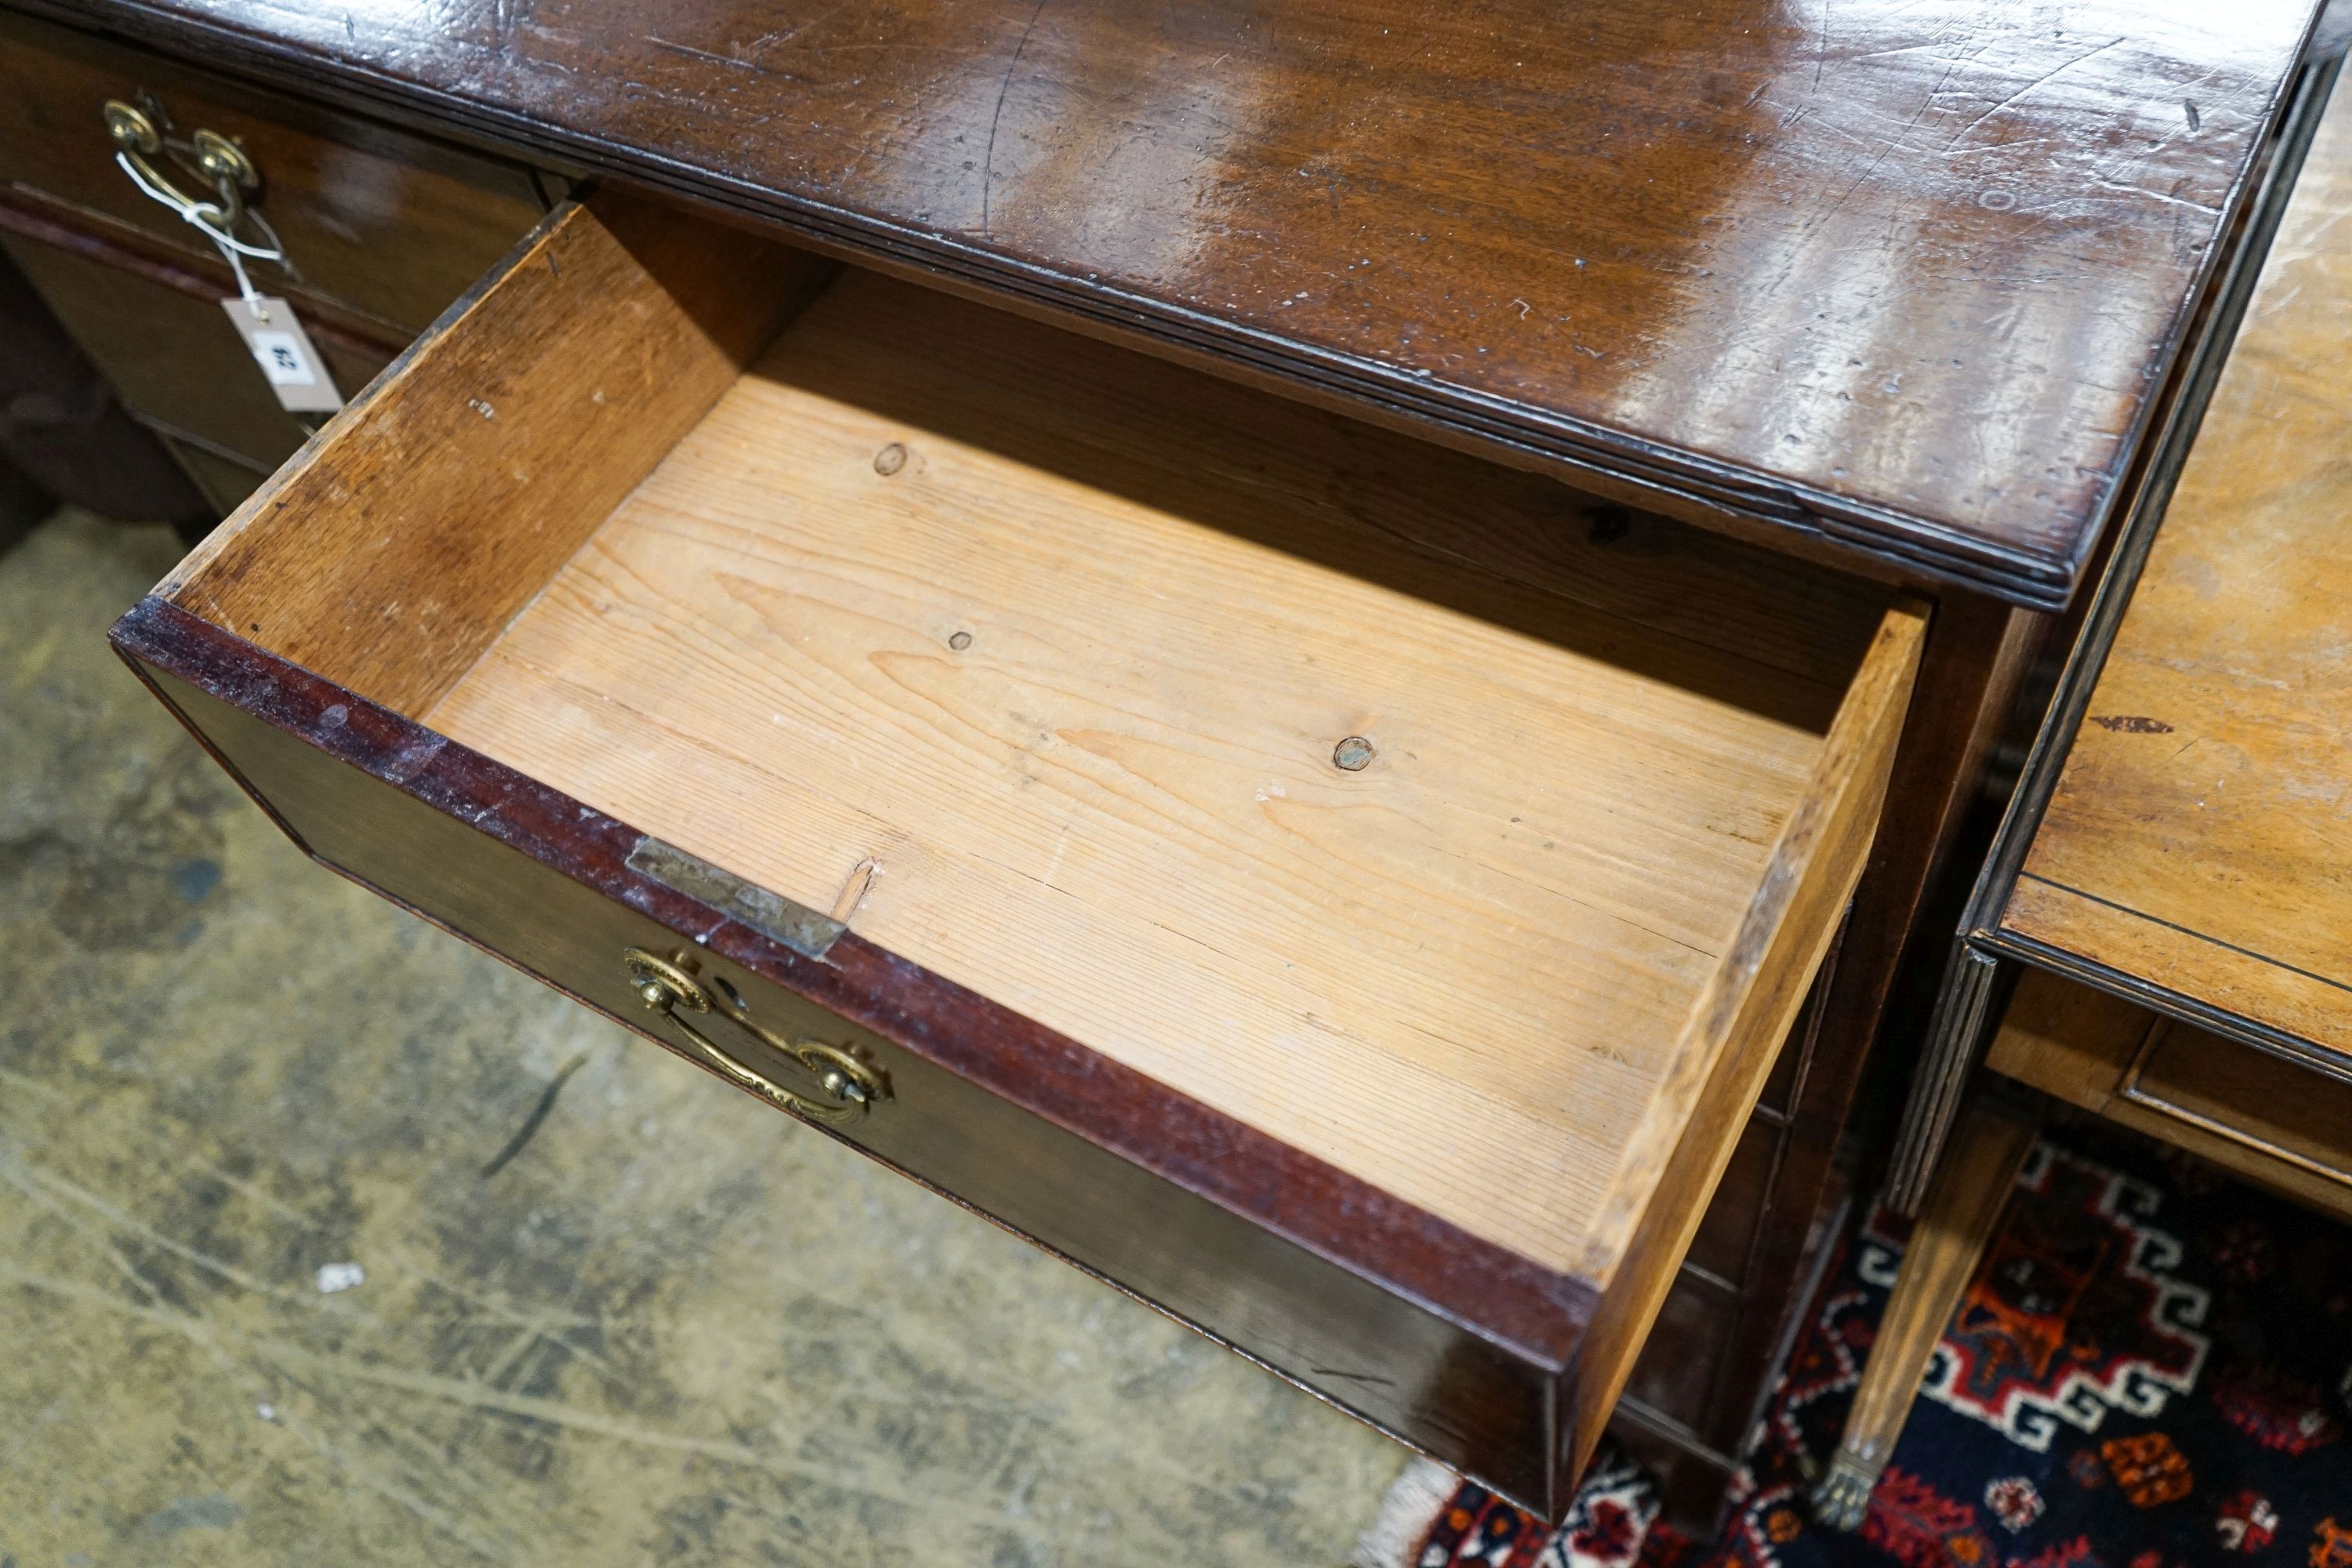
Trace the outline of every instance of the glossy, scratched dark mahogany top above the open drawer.
[[2314, 9], [9, 2], [2034, 604]]

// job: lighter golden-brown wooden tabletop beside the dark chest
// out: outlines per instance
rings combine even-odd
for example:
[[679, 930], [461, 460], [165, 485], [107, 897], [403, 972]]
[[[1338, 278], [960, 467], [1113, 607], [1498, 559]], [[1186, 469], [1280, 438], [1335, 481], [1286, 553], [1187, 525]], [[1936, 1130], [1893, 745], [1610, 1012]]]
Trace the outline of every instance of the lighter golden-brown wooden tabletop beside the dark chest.
[[1999, 924], [2352, 1053], [2347, 214], [2338, 92]]

